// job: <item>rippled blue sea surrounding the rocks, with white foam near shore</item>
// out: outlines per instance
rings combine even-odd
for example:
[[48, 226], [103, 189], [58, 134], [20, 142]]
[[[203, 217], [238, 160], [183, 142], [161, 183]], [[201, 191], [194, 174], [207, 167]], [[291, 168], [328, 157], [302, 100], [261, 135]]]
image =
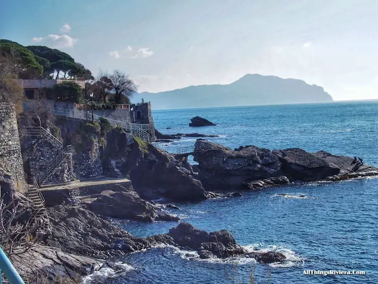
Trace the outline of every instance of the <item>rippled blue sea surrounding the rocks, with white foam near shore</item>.
[[[189, 127], [194, 116], [217, 126]], [[256, 145], [271, 150], [325, 150], [361, 157], [365, 163], [378, 166], [378, 102], [155, 110], [153, 118], [155, 127], [164, 134], [219, 135], [207, 139], [230, 148]], [[159, 143], [159, 147], [175, 151], [178, 147], [193, 147], [195, 142], [196, 138], [182, 138]], [[193, 158], [191, 162], [196, 163]], [[128, 267], [122, 273], [100, 271], [97, 278], [86, 281], [378, 283], [378, 179], [299, 183], [244, 192], [237, 198], [176, 205], [179, 210], [168, 212], [182, 221], [208, 232], [228, 230], [247, 250], [275, 250], [287, 260], [270, 265], [248, 258], [199, 260], [194, 251], [158, 246], [119, 259]], [[117, 223], [140, 237], [167, 233], [177, 225], [124, 220]], [[314, 274], [306, 274], [309, 270]], [[346, 274], [335, 275], [335, 271]]]

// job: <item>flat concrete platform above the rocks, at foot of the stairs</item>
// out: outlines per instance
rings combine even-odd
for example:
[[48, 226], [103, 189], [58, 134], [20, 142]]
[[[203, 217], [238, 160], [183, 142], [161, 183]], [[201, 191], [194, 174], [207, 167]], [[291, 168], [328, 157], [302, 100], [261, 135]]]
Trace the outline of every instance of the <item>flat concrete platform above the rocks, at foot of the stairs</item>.
[[88, 187], [100, 187], [106, 188], [106, 186], [114, 186], [114, 185], [122, 185], [122, 186], [130, 186], [131, 181], [125, 178], [100, 178], [100, 179], [87, 179], [75, 183], [68, 183], [68, 184], [60, 184], [60, 185], [51, 185], [51, 186], [44, 186], [41, 188], [41, 191], [51, 191], [51, 190], [64, 190], [64, 189], [81, 189], [81, 188], [88, 188]]

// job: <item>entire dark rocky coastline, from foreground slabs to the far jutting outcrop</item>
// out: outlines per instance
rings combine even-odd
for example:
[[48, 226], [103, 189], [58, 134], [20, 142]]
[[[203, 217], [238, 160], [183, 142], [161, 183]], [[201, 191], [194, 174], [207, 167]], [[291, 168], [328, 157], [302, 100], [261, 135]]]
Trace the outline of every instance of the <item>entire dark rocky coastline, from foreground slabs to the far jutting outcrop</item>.
[[[256, 146], [230, 149], [198, 139], [193, 153], [170, 154], [127, 133], [111, 130], [110, 142], [99, 154], [109, 176], [128, 176], [132, 186], [108, 189], [65, 190], [44, 193], [46, 212], [42, 238], [26, 256], [38, 259], [26, 270], [49, 278], [75, 273], [87, 275], [101, 267], [116, 267], [128, 253], [171, 245], [197, 252], [198, 258], [251, 257], [259, 263], [285, 261], [281, 253], [248, 252], [226, 230], [208, 233], [180, 222], [166, 234], [138, 238], [118, 228], [111, 218], [137, 221], [179, 221], [164, 208], [168, 202], [200, 202], [220, 196], [237, 198], [243, 191], [262, 190], [293, 182], [341, 181], [378, 175], [378, 168], [353, 158], [302, 149], [268, 150]], [[111, 149], [118, 149], [116, 153]], [[198, 167], [186, 156], [192, 154]], [[16, 194], [12, 179], [0, 171], [2, 189]], [[17, 198], [28, 208], [27, 197]], [[158, 204], [154, 200], [159, 200]], [[164, 205], [165, 204], [165, 205]], [[110, 220], [109, 220], [110, 218]], [[15, 258], [16, 263], [22, 262]], [[21, 265], [21, 264], [20, 264]], [[74, 272], [75, 271], [75, 272]]]

